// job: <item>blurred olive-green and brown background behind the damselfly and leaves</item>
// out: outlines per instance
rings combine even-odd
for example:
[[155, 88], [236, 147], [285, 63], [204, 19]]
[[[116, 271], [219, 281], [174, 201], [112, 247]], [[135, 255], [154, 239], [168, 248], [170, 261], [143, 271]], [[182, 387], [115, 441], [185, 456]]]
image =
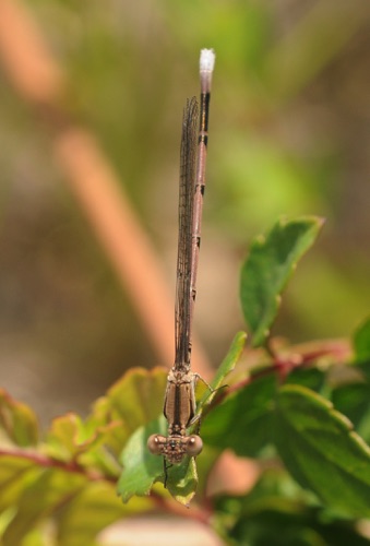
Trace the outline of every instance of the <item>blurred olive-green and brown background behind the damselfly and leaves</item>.
[[[291, 343], [350, 335], [370, 309], [369, 27], [366, 0], [4, 0], [0, 385], [46, 425], [85, 415], [132, 366], [172, 364], [56, 142], [72, 126], [94, 138], [147, 237], [172, 317], [181, 117], [199, 93], [203, 47], [217, 56], [195, 309], [205, 354], [216, 367], [246, 328], [239, 268], [281, 216], [315, 214], [326, 225], [274, 333]], [[45, 86], [39, 69], [51, 71]], [[140, 248], [134, 234], [132, 250], [124, 245], [132, 256]]]

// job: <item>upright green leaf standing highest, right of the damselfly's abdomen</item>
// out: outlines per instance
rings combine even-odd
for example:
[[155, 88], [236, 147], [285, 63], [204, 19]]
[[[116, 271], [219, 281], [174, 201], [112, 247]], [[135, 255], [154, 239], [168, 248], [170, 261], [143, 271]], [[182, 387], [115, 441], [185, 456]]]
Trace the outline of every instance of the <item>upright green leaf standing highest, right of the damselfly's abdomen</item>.
[[315, 216], [281, 219], [267, 235], [252, 242], [240, 277], [241, 307], [252, 333], [252, 346], [262, 345], [268, 336], [281, 294], [322, 225], [323, 219]]

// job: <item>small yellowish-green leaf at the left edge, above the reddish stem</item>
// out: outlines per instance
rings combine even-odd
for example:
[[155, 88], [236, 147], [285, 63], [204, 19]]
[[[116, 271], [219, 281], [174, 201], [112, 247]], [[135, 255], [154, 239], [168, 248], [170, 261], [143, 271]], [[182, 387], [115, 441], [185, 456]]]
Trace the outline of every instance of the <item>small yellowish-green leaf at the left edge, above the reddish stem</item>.
[[0, 389], [0, 427], [8, 438], [22, 448], [38, 441], [38, 424], [34, 412]]

